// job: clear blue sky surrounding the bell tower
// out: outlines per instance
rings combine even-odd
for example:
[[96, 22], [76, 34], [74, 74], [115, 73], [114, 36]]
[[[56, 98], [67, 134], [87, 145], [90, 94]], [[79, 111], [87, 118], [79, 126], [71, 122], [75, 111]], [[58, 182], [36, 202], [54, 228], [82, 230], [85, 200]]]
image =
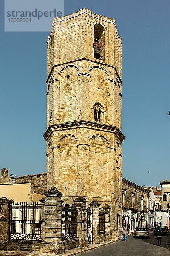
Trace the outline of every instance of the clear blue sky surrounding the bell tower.
[[[82, 8], [115, 19], [123, 41], [123, 177], [170, 180], [170, 1], [65, 0], [65, 15]], [[46, 172], [47, 36], [4, 32], [0, 20], [0, 169], [17, 176]]]

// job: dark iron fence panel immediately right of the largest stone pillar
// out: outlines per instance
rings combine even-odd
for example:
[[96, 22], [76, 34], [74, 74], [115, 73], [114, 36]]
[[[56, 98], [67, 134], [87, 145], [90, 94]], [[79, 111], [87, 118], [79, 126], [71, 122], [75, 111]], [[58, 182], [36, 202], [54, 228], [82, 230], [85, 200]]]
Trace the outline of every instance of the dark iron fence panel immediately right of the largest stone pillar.
[[77, 238], [77, 209], [62, 204], [62, 241]]

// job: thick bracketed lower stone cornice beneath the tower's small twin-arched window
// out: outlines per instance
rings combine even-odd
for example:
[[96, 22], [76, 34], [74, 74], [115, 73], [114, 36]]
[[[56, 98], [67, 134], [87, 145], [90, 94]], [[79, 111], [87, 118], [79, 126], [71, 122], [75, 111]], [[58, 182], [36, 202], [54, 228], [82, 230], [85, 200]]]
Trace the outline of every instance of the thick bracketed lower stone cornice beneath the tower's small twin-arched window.
[[125, 140], [124, 134], [122, 134], [122, 131], [120, 131], [118, 127], [85, 120], [49, 125], [43, 137], [45, 140], [47, 140], [49, 135], [53, 131], [61, 131], [75, 128], [90, 128], [93, 130], [107, 131], [116, 134], [116, 136], [119, 138], [119, 140], [121, 140], [121, 142]]

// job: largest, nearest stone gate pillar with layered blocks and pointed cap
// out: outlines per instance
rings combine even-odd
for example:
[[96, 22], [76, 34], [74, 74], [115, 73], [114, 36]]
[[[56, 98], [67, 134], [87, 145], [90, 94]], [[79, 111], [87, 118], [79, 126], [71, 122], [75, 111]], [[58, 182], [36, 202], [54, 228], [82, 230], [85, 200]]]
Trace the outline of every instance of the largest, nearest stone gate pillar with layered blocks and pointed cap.
[[45, 231], [43, 230], [40, 251], [44, 253], [64, 253], [64, 243], [61, 241], [62, 193], [56, 187], [51, 187], [44, 195]]

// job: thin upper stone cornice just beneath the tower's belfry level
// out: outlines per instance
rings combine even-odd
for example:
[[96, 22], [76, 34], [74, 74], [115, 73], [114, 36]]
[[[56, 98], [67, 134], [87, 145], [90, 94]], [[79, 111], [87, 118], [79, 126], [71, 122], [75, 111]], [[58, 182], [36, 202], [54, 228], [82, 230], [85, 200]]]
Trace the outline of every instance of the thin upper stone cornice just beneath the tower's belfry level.
[[[119, 73], [117, 72], [115, 66], [110, 65], [110, 64], [107, 64], [107, 63], [102, 62], [102, 61], [96, 61], [95, 59], [92, 60], [92, 59], [88, 59], [88, 58], [80, 58], [80, 59], [76, 59], [76, 60], [73, 60], [73, 61], [67, 61], [67, 62], [63, 62], [63, 63], [59, 63], [59, 64], [56, 64], [56, 65], [53, 65], [53, 67], [51, 68], [51, 71], [50, 71], [49, 74], [48, 74], [48, 77], [47, 77], [47, 81], [46, 81], [46, 82], [48, 82], [48, 79], [50, 79], [51, 73], [53, 72], [54, 67], [59, 67], [59, 66], [66, 65], [66, 64], [69, 64], [69, 63], [73, 63], [73, 62], [77, 62], [77, 61], [90, 61], [90, 62], [94, 62], [94, 63], [100, 64], [100, 65], [102, 65], [102, 66], [114, 68], [114, 70], [116, 71], [116, 75], [117, 75], [117, 77], [119, 78], [120, 83], [122, 84], [122, 79], [121, 79], [121, 77], [119, 76]], [[84, 75], [87, 75], [88, 73], [83, 73], [83, 74], [84, 74]], [[80, 74], [79, 74], [79, 75], [80, 75]], [[108, 79], [109, 79], [109, 78], [108, 78]]]

